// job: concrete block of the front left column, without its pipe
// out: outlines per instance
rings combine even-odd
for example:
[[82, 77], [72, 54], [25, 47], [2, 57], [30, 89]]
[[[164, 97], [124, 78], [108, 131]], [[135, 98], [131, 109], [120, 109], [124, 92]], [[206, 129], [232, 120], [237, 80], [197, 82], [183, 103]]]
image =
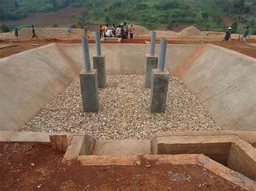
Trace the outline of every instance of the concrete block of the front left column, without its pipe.
[[80, 74], [80, 84], [84, 112], [97, 112], [99, 110], [99, 90], [97, 70], [86, 72], [83, 69]]

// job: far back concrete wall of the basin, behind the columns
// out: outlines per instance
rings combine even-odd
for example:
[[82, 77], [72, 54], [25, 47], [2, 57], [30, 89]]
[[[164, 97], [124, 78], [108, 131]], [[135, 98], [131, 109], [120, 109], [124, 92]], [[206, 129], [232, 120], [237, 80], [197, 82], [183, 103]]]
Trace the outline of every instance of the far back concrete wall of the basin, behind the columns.
[[[64, 54], [70, 56], [77, 65], [84, 67], [82, 46], [80, 44], [58, 44]], [[193, 53], [204, 45], [168, 45], [166, 68], [176, 63], [191, 59]], [[92, 56], [96, 53], [96, 46], [90, 44], [91, 67]], [[102, 54], [106, 56], [107, 74], [144, 74], [146, 54], [150, 53], [150, 45], [143, 44], [102, 44]], [[159, 45], [156, 45], [156, 54], [159, 55]]]

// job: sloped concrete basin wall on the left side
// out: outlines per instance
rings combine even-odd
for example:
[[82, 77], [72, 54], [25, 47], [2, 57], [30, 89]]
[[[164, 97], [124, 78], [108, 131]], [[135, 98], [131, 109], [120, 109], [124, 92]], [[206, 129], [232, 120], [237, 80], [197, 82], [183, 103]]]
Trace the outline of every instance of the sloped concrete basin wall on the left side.
[[79, 71], [56, 44], [0, 59], [0, 130], [21, 128]]

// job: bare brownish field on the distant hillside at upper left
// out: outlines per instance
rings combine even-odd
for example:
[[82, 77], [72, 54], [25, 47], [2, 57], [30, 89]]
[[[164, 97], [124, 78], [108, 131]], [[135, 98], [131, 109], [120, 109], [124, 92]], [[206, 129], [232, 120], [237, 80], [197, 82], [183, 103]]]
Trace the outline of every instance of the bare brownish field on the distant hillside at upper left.
[[75, 17], [81, 16], [83, 9], [81, 8], [63, 8], [56, 12], [38, 12], [22, 19], [22, 20], [0, 20], [0, 24], [5, 23], [7, 25], [13, 25], [14, 23], [18, 26], [24, 25], [35, 25], [36, 27], [49, 27], [53, 23], [58, 23], [60, 25], [69, 25], [72, 22], [71, 16]]

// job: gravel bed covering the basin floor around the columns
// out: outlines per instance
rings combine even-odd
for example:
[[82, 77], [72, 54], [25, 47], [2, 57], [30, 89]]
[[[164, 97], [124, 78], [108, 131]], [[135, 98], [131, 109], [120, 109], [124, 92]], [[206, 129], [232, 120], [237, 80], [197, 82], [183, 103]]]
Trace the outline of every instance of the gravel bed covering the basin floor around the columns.
[[107, 75], [97, 113], [84, 113], [79, 76], [21, 131], [86, 133], [97, 139], [149, 139], [159, 131], [220, 130], [180, 77], [171, 76], [166, 112], [150, 113], [144, 75]]

